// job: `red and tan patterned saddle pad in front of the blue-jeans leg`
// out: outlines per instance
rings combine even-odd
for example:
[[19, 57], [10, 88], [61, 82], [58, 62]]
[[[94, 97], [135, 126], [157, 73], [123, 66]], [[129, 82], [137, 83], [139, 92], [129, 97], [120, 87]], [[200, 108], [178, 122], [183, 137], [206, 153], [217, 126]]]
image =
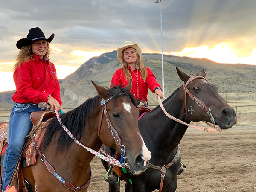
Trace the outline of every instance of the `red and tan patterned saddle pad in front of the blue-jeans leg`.
[[[38, 147], [41, 146], [45, 131], [47, 130], [46, 123], [48, 124], [48, 121], [42, 122], [37, 131], [35, 132], [35, 142], [37, 143]], [[38, 154], [38, 151], [35, 150], [35, 147], [33, 145], [32, 140], [29, 138], [29, 140], [26, 140], [25, 148], [23, 150], [23, 160], [22, 160], [22, 166], [27, 167], [30, 165], [35, 165], [36, 162], [36, 156]], [[24, 161], [26, 159], [26, 161]]]

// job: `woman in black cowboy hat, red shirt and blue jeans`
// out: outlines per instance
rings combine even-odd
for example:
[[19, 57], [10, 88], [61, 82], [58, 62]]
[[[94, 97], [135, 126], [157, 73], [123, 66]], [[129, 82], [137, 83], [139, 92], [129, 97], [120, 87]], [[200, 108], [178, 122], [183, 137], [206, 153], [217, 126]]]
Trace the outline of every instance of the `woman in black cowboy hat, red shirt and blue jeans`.
[[15, 103], [10, 114], [9, 141], [3, 163], [3, 191], [11, 179], [25, 137], [32, 128], [30, 114], [44, 111], [47, 103], [52, 110], [61, 110], [60, 84], [54, 64], [49, 61], [49, 43], [53, 38], [54, 34], [45, 38], [42, 30], [36, 27], [16, 44], [20, 52], [14, 65], [16, 91], [12, 100]]

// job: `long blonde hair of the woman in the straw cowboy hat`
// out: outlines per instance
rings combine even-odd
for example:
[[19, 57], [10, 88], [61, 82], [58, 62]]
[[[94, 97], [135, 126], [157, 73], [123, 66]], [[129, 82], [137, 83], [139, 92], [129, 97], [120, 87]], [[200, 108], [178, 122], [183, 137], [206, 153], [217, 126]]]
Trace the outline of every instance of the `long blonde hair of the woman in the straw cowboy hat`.
[[[129, 47], [128, 47], [129, 48]], [[127, 49], [127, 48], [126, 48]], [[133, 48], [134, 49], [134, 48]], [[125, 49], [124, 49], [125, 50]], [[122, 51], [122, 69], [123, 69], [123, 72], [125, 74], [125, 79], [126, 80], [130, 80], [132, 79], [131, 77], [131, 73], [130, 71], [128, 70], [128, 67], [127, 67], [127, 63], [124, 59], [124, 50]], [[135, 52], [136, 52], [136, 55], [137, 55], [137, 61], [136, 61], [136, 64], [138, 65], [138, 70], [140, 70], [140, 75], [141, 75], [141, 78], [145, 81], [148, 77], [148, 71], [146, 70], [145, 66], [144, 66], [144, 63], [142, 61], [142, 58], [141, 56], [138, 54], [137, 50], [134, 49]]]

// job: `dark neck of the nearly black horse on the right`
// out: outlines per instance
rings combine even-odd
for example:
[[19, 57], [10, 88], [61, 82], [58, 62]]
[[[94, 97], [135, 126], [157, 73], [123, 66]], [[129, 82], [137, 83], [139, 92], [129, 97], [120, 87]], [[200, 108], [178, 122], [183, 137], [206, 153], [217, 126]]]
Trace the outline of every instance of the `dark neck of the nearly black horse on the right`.
[[[185, 112], [182, 88], [172, 98], [166, 99], [163, 106], [170, 115], [190, 123]], [[151, 163], [167, 162], [172, 159], [175, 155], [174, 152], [167, 151], [174, 151], [188, 128], [186, 125], [166, 117], [160, 107], [146, 114], [142, 121], [139, 121], [139, 127], [143, 139], [151, 151]]]

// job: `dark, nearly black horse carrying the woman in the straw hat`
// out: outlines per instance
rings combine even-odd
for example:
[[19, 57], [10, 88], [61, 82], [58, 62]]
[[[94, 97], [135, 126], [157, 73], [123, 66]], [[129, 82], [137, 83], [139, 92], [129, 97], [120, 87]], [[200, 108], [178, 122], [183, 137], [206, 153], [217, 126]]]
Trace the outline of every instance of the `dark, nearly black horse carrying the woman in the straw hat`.
[[[231, 128], [236, 123], [235, 111], [218, 94], [218, 88], [205, 79], [204, 70], [200, 75], [191, 78], [179, 68], [176, 67], [176, 70], [180, 79], [184, 81], [184, 86], [175, 90], [163, 102], [170, 115], [188, 124], [191, 121], [203, 120], [214, 122], [222, 129]], [[125, 192], [160, 190], [162, 178], [162, 192], [175, 192], [180, 165], [178, 144], [188, 126], [170, 119], [160, 106], [157, 106], [140, 118], [139, 128], [151, 151], [151, 159], [149, 168], [141, 175], [128, 175], [132, 185], [127, 182]], [[105, 169], [108, 169], [107, 163], [103, 164]], [[161, 177], [161, 174], [164, 177]], [[110, 191], [119, 192], [119, 183], [110, 183]]]

